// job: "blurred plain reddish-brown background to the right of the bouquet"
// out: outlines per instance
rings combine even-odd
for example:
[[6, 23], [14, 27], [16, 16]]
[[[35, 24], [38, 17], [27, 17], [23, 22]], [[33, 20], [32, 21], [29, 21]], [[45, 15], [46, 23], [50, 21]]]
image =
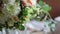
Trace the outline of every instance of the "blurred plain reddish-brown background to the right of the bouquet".
[[[52, 18], [60, 16], [60, 0], [43, 0], [52, 7], [50, 14]], [[51, 34], [60, 34], [60, 22], [57, 23], [56, 31]]]

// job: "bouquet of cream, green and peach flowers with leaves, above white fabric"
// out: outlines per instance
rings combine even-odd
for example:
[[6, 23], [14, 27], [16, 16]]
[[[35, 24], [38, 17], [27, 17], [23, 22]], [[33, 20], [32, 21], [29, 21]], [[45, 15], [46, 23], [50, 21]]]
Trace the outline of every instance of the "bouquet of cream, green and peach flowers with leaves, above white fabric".
[[49, 14], [51, 7], [42, 0], [0, 0], [0, 4], [0, 28], [24, 30], [23, 24], [32, 19], [55, 24]]

